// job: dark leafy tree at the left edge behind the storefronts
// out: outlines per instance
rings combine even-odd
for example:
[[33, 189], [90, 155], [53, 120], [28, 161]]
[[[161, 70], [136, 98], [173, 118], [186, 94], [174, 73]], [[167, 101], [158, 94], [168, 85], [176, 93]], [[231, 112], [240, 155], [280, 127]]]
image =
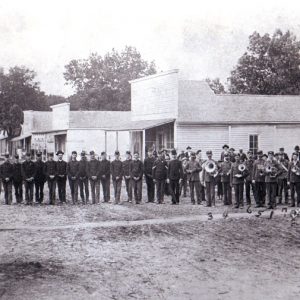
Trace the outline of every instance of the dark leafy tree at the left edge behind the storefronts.
[[20, 133], [23, 110], [45, 110], [44, 93], [35, 81], [35, 72], [25, 67], [0, 70], [0, 130], [11, 138]]

